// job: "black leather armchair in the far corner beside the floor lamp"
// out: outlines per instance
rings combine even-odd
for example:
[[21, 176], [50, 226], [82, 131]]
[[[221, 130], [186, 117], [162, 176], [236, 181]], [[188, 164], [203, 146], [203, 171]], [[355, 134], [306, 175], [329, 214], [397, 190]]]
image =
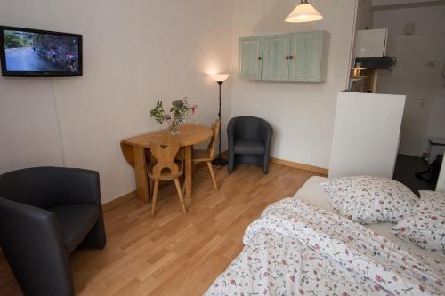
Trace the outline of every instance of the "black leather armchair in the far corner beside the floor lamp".
[[256, 164], [269, 172], [271, 154], [271, 124], [261, 118], [239, 116], [231, 118], [227, 125], [229, 137], [229, 172], [235, 164]]

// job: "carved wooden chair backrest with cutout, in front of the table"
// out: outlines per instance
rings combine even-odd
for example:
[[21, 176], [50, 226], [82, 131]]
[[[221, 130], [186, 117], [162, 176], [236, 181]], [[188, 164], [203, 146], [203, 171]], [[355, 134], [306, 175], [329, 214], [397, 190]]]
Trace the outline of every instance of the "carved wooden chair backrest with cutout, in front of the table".
[[178, 164], [174, 163], [174, 156], [178, 154], [181, 143], [174, 140], [170, 134], [162, 134], [150, 141], [150, 152], [156, 158], [156, 164], [153, 166], [153, 178], [158, 179], [165, 169], [170, 170], [172, 175], [179, 172]]

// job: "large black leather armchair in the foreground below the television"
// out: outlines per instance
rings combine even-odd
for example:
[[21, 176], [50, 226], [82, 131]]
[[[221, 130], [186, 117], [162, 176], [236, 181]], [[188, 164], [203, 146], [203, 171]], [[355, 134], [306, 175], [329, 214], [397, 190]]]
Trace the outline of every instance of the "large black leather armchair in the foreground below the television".
[[37, 167], [0, 175], [0, 245], [25, 295], [73, 295], [69, 254], [105, 244], [98, 172]]

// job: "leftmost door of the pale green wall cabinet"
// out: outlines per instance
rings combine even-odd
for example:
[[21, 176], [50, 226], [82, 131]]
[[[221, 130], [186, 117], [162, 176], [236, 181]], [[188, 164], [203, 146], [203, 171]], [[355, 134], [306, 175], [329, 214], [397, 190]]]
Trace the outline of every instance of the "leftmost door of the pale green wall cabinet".
[[239, 76], [261, 80], [263, 37], [239, 38]]

